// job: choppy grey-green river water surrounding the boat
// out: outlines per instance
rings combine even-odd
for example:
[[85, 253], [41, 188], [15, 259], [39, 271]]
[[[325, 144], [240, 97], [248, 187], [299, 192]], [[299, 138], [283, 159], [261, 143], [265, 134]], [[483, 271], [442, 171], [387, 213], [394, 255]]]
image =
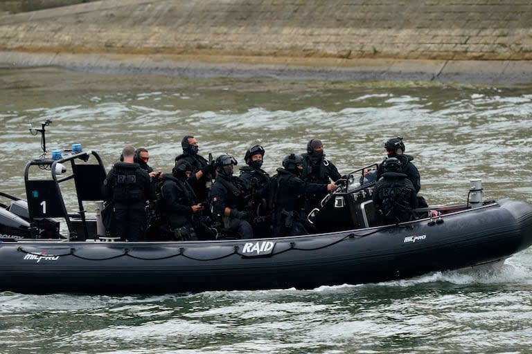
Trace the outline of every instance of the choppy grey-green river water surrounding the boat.
[[[170, 171], [180, 140], [243, 162], [256, 143], [265, 169], [321, 138], [341, 172], [383, 158], [403, 136], [430, 204], [465, 202], [470, 178], [486, 199], [532, 203], [531, 87], [104, 77], [0, 71], [1, 190], [24, 197], [39, 156], [27, 124], [46, 119], [46, 145], [74, 142], [110, 167], [126, 144]], [[73, 205], [74, 201], [69, 201]], [[0, 293], [0, 353], [529, 353], [532, 251], [497, 271], [314, 290], [159, 297]], [[60, 275], [60, 274], [58, 274]], [[139, 279], [139, 287], [142, 279]]]

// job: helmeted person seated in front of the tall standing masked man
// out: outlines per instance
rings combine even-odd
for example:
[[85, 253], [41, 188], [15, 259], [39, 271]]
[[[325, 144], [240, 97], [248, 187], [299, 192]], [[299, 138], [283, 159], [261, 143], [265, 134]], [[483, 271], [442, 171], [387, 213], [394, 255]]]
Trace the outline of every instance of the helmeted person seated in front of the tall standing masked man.
[[213, 235], [202, 220], [204, 207], [198, 203], [194, 190], [188, 184], [192, 171], [190, 163], [179, 160], [172, 174], [163, 175], [159, 210], [168, 221], [174, 239], [212, 239]]

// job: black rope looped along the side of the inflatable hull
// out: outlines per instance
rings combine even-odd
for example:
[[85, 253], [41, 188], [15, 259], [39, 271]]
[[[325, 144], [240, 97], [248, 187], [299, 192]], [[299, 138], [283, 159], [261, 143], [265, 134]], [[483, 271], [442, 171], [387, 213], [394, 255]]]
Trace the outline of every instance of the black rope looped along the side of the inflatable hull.
[[[296, 247], [296, 243], [292, 241], [292, 242], [290, 242], [290, 247], [289, 248], [286, 248], [285, 250], [280, 250], [278, 252], [274, 252], [274, 253], [271, 254], [271, 257], [273, 257], [273, 256], [275, 256], [277, 254], [283, 254], [285, 252], [289, 252], [289, 251], [292, 251], [292, 250], [298, 250], [298, 251], [322, 250], [323, 248], [331, 247], [332, 245], [336, 245], [337, 243], [345, 241], [346, 239], [353, 239], [356, 236], [361, 237], [360, 235], [356, 235], [354, 233], [350, 233], [350, 234], [346, 234], [346, 236], [343, 236], [341, 239], [337, 239], [337, 240], [332, 241], [330, 243], [327, 243], [325, 245], [321, 245], [321, 246], [313, 247], [313, 248]], [[364, 236], [367, 236], [367, 235], [364, 235]], [[240, 257], [247, 257], [247, 254], [242, 254], [241, 252], [238, 252], [238, 248], [239, 248], [238, 245], [234, 245], [232, 252], [229, 252], [229, 253], [224, 254], [222, 256], [219, 256], [219, 257], [211, 257], [211, 258], [207, 258], [207, 259], [192, 257], [192, 256], [189, 256], [188, 254], [185, 254], [185, 248], [184, 247], [179, 248], [179, 252], [176, 253], [176, 254], [170, 254], [168, 256], [154, 257], [154, 258], [134, 256], [134, 255], [130, 254], [130, 250], [128, 248], [125, 248], [123, 250], [123, 253], [121, 253], [121, 254], [116, 254], [114, 256], [104, 257], [104, 258], [83, 257], [83, 256], [80, 256], [79, 254], [76, 254], [74, 252], [75, 251], [74, 248], [71, 248], [69, 252], [63, 253], [63, 254], [46, 254], [44, 252], [35, 253], [35, 252], [30, 252], [30, 251], [24, 250], [24, 248], [22, 248], [22, 247], [17, 248], [17, 251], [23, 252], [23, 253], [26, 253], [26, 254], [32, 254], [33, 256], [36, 256], [36, 257], [67, 257], [67, 256], [72, 256], [72, 257], [76, 257], [78, 259], [83, 259], [85, 261], [109, 261], [111, 259], [117, 259], [117, 258], [120, 258], [120, 257], [130, 257], [130, 258], [139, 259], [139, 260], [142, 260], [142, 261], [161, 261], [163, 259], [170, 259], [170, 258], [174, 258], [174, 257], [185, 257], [186, 259], [192, 259], [193, 261], [217, 261], [219, 259], [224, 259], [224, 258], [227, 258], [227, 257], [231, 257], [231, 256], [233, 256], [235, 254], [240, 256]]]

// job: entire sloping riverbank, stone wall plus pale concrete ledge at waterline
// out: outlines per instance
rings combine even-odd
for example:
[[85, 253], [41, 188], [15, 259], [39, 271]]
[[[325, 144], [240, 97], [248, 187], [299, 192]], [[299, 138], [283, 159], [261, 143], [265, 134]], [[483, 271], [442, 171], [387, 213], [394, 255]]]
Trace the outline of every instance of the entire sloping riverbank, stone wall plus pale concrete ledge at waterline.
[[0, 16], [0, 50], [78, 70], [532, 82], [532, 3], [94, 1]]

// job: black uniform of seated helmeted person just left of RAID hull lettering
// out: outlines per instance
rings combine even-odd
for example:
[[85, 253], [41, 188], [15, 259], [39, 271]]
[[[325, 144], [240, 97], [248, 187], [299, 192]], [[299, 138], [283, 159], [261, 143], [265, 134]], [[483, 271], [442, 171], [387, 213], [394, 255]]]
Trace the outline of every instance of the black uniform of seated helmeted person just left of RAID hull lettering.
[[[247, 205], [246, 188], [243, 180], [236, 176], [218, 174], [211, 188], [211, 203], [214, 212], [221, 216], [224, 227], [238, 232], [240, 239], [252, 239], [253, 229], [245, 220], [249, 216], [244, 212]], [[231, 209], [231, 215], [225, 216], [225, 208]]]

